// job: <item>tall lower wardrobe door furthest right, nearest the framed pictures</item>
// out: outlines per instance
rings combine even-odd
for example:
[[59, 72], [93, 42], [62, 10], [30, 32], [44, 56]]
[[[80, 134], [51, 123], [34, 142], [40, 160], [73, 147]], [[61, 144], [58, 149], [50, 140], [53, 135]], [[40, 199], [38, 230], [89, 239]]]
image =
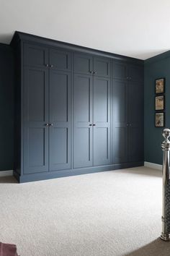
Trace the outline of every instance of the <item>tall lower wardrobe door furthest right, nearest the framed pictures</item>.
[[143, 161], [143, 85], [128, 82], [129, 161]]

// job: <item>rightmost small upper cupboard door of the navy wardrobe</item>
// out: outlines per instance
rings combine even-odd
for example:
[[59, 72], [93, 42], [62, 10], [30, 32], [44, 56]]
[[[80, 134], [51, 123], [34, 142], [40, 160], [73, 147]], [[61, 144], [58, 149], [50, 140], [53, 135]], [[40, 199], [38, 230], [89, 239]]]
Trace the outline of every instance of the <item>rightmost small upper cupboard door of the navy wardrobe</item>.
[[143, 77], [144, 77], [143, 67], [140, 67], [138, 65], [129, 65], [128, 77], [132, 81], [143, 82]]

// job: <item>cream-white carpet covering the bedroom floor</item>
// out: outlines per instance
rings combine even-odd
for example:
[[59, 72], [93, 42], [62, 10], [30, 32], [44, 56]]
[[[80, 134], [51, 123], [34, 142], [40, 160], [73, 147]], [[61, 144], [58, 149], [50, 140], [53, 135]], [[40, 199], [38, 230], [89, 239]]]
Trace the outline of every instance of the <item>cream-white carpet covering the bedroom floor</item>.
[[161, 171], [138, 167], [17, 184], [0, 178], [0, 241], [21, 256], [162, 256]]

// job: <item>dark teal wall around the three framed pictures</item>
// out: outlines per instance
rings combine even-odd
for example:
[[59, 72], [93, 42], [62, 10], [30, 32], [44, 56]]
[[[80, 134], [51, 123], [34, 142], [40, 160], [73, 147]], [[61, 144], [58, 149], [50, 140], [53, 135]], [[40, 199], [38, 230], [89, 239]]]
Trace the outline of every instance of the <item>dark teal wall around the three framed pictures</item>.
[[170, 51], [145, 61], [145, 161], [162, 164], [161, 135], [155, 127], [155, 80], [166, 78], [166, 127], [170, 127]]

